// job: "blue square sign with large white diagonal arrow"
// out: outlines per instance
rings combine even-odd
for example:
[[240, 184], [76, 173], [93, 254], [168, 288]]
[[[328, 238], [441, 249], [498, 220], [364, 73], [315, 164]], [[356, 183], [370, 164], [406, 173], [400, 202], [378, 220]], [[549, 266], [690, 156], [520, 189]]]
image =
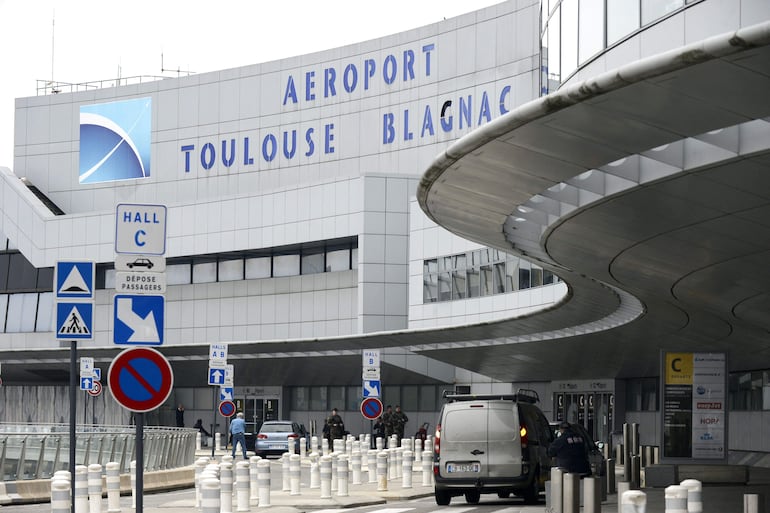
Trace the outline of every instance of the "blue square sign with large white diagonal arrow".
[[163, 344], [163, 296], [116, 295], [116, 344], [159, 346]]

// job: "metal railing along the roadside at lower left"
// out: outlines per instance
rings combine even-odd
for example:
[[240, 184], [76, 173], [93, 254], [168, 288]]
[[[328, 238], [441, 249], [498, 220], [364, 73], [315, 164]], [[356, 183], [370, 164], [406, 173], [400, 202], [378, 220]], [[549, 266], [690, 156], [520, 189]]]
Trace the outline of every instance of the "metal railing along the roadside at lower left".
[[[144, 426], [145, 471], [192, 465], [197, 430]], [[19, 425], [0, 423], [0, 476], [3, 481], [46, 479], [69, 469], [68, 424]], [[75, 464], [120, 465], [129, 473], [136, 459], [135, 426], [77, 426]]]

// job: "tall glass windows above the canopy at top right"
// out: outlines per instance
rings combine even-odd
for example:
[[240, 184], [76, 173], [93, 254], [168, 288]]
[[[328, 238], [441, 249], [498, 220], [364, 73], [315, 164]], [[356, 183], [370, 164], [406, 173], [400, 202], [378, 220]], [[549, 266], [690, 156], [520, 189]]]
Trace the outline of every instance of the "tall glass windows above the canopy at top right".
[[542, 94], [626, 36], [703, 0], [544, 0]]

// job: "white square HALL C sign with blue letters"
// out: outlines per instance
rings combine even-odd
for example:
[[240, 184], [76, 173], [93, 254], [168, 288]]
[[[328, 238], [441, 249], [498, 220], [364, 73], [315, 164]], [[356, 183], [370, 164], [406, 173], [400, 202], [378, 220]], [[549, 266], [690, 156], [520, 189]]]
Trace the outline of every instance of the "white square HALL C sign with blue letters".
[[166, 253], [166, 206], [120, 203], [115, 212], [115, 253]]

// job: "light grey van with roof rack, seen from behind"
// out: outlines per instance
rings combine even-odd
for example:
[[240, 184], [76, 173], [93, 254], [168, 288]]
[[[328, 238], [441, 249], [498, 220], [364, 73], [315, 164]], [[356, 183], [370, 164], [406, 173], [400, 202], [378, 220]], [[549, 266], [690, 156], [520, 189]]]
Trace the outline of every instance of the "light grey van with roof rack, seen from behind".
[[433, 475], [436, 504], [482, 493], [521, 496], [536, 503], [549, 479], [553, 432], [534, 390], [516, 394], [446, 395], [436, 426]]

